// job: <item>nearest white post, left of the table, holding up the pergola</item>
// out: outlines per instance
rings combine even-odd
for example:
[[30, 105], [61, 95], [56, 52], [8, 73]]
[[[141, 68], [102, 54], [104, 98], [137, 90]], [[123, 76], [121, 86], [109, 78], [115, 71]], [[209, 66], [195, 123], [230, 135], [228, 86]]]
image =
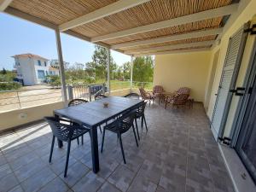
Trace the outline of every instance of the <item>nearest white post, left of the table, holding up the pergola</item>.
[[56, 46], [58, 51], [58, 58], [59, 58], [59, 67], [60, 67], [60, 75], [61, 75], [61, 91], [62, 91], [62, 100], [67, 106], [67, 87], [66, 87], [66, 80], [65, 80], [65, 69], [62, 57], [62, 49], [61, 49], [61, 34], [58, 29], [55, 29], [55, 37], [56, 37]]

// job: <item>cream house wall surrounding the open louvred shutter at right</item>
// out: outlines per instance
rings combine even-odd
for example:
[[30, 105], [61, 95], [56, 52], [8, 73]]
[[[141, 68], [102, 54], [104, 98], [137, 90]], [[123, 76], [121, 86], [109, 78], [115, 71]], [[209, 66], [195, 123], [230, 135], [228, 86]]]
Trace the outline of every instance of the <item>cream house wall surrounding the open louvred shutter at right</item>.
[[[247, 5], [246, 9], [244, 9], [242, 11], [241, 15], [239, 15], [239, 17], [233, 23], [233, 25], [230, 26], [230, 29], [227, 32], [224, 33], [224, 35], [221, 39], [221, 44], [219, 44], [214, 49], [212, 49], [211, 65], [212, 65], [212, 62], [213, 62], [213, 55], [218, 51], [218, 49], [220, 49], [220, 54], [219, 54], [219, 59], [218, 59], [218, 66], [217, 66], [216, 73], [215, 73], [215, 78], [214, 78], [213, 85], [212, 85], [212, 90], [210, 90], [211, 91], [211, 99], [210, 99], [208, 110], [207, 110], [207, 116], [209, 117], [209, 119], [212, 118], [212, 112], [213, 112], [213, 108], [214, 108], [214, 104], [215, 104], [215, 100], [216, 100], [216, 96], [214, 95], [214, 93], [216, 93], [218, 91], [218, 84], [219, 84], [222, 69], [223, 69], [223, 66], [224, 66], [224, 59], [225, 59], [226, 50], [227, 50], [228, 43], [229, 43], [229, 38], [244, 23], [246, 23], [248, 20], [252, 20], [253, 15], [256, 14], [256, 9], [255, 8], [256, 8], [256, 1], [253, 0]], [[253, 22], [255, 23], [255, 21], [253, 21]], [[236, 82], [236, 86], [241, 86], [243, 84], [254, 40], [255, 40], [255, 37], [253, 37], [253, 36], [248, 36], [248, 38], [247, 38], [247, 46], [245, 48], [244, 55], [243, 55], [243, 58], [242, 58], [242, 61], [241, 61], [241, 69], [240, 69], [239, 76], [238, 76], [238, 79], [237, 79], [237, 82]], [[208, 76], [210, 76], [211, 73], [212, 72], [210, 71]], [[231, 102], [231, 106], [230, 106], [230, 114], [229, 114], [229, 117], [227, 119], [227, 123], [226, 123], [226, 126], [225, 126], [225, 131], [224, 131], [224, 136], [225, 137], [230, 136], [230, 130], [231, 130], [231, 127], [232, 127], [232, 124], [233, 124], [234, 115], [236, 113], [237, 102], [238, 102], [238, 97], [234, 96], [233, 100]]]

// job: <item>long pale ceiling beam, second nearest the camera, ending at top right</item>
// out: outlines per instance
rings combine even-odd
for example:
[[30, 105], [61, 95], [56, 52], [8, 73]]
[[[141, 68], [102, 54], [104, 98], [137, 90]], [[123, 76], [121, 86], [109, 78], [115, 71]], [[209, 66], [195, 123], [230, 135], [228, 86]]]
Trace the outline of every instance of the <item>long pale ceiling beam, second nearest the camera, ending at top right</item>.
[[134, 35], [137, 33], [150, 32], [150, 31], [154, 31], [154, 30], [158, 30], [166, 27], [178, 26], [178, 25], [192, 23], [199, 20], [207, 20], [207, 19], [212, 19], [219, 16], [230, 15], [236, 12], [237, 6], [238, 6], [238, 3], [234, 3], [234, 4], [217, 8], [217, 9], [210, 9], [207, 11], [202, 11], [202, 12], [191, 14], [191, 15], [185, 15], [185, 16], [173, 18], [171, 20], [163, 20], [157, 23], [146, 25], [146, 26], [138, 26], [135, 28], [124, 30], [124, 31], [113, 32], [106, 35], [91, 38], [91, 41], [98, 42], [98, 41], [104, 41], [104, 40], [113, 39], [113, 38], [122, 38], [125, 36]]

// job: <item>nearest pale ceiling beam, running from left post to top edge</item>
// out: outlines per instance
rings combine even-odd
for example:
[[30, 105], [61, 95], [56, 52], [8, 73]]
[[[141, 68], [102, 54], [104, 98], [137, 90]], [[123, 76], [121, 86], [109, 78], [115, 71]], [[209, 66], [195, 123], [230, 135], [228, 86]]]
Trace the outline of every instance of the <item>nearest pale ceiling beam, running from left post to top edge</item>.
[[69, 20], [59, 26], [61, 32], [66, 31], [67, 29], [71, 29], [76, 26], [81, 26], [86, 23], [92, 22], [94, 20], [99, 20], [108, 15], [116, 14], [125, 9], [130, 9], [139, 4], [146, 3], [149, 0], [119, 0], [118, 2], [111, 3], [101, 9], [96, 9], [95, 11], [80, 16], [74, 20]]

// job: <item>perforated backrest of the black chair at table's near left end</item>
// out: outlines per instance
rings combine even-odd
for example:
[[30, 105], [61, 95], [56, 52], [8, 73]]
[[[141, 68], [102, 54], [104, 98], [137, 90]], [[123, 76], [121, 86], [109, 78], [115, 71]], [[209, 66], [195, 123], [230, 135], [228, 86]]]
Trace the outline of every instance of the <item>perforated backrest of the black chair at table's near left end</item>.
[[73, 129], [71, 125], [61, 124], [55, 117], [44, 117], [49, 123], [50, 129], [55, 137], [63, 142], [73, 137]]

